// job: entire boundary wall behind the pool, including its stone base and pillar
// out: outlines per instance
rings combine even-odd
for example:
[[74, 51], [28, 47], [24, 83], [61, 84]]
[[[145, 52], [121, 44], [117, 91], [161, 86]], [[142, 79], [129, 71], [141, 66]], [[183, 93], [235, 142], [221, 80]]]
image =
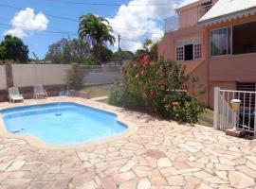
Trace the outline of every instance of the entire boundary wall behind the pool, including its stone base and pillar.
[[[18, 87], [25, 98], [33, 97], [33, 86], [43, 84], [48, 96], [58, 95], [66, 86], [66, 71], [72, 64], [10, 64], [0, 65], [0, 101], [8, 100], [8, 88]], [[75, 65], [74, 65], [75, 66]], [[85, 69], [84, 66], [80, 67]], [[121, 66], [88, 66], [84, 85], [113, 83], [120, 76]]]

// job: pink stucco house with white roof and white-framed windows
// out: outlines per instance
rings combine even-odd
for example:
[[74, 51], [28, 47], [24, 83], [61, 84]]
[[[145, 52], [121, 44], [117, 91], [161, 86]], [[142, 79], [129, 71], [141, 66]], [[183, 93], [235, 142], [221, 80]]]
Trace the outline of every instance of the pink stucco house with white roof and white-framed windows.
[[256, 0], [185, 0], [179, 26], [158, 45], [165, 60], [185, 64], [207, 88], [200, 96], [213, 107], [213, 89], [256, 91]]

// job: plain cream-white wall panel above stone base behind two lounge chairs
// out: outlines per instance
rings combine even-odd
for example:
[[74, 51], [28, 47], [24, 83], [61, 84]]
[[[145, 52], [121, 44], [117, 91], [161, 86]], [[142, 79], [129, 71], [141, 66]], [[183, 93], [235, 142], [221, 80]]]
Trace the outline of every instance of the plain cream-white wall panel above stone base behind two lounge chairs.
[[13, 84], [27, 87], [34, 84], [65, 84], [66, 70], [70, 64], [12, 64]]

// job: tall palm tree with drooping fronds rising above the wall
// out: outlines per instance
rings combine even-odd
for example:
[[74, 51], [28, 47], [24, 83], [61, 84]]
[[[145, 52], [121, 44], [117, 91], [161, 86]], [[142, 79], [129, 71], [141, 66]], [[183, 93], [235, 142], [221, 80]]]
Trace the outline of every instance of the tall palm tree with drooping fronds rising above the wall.
[[82, 15], [79, 24], [79, 39], [92, 45], [93, 53], [97, 60], [102, 60], [102, 49], [108, 43], [113, 45], [115, 37], [109, 22], [102, 17], [91, 13]]

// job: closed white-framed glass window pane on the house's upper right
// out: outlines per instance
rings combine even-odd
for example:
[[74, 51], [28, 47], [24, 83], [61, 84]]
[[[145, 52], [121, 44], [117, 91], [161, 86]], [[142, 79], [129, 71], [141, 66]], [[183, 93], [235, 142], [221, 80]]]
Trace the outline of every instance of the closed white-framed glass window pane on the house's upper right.
[[230, 47], [230, 27], [210, 31], [210, 56], [229, 55], [231, 53]]

